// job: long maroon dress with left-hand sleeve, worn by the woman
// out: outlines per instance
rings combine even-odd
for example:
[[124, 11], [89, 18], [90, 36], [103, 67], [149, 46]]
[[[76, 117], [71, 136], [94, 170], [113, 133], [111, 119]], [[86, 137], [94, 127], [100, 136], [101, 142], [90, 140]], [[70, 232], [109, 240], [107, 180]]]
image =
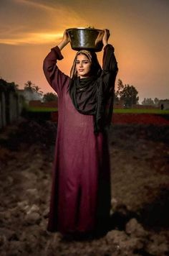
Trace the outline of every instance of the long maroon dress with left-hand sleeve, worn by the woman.
[[106, 228], [110, 216], [107, 134], [95, 134], [93, 116], [74, 108], [70, 78], [56, 65], [62, 58], [59, 47], [54, 47], [44, 59], [44, 74], [58, 94], [59, 111], [47, 229], [62, 234], [91, 232]]

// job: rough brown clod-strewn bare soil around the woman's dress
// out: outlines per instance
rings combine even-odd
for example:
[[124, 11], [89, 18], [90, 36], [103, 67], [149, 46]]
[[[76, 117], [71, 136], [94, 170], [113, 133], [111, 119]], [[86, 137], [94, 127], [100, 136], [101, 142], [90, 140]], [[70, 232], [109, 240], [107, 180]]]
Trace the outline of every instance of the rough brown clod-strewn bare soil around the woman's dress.
[[56, 130], [26, 119], [1, 130], [0, 255], [169, 255], [168, 126], [112, 126], [110, 231], [83, 241], [46, 230]]

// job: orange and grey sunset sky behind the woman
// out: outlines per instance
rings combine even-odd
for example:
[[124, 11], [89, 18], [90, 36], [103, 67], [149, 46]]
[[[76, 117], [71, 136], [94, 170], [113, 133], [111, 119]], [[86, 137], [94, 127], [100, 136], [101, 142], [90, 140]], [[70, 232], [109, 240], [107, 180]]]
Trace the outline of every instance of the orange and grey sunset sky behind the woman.
[[[110, 29], [117, 79], [135, 86], [140, 102], [169, 99], [168, 0], [0, 0], [0, 77], [52, 91], [42, 71], [45, 56], [64, 29], [89, 26]], [[58, 65], [69, 75], [75, 51], [67, 45], [62, 54]], [[102, 63], [102, 52], [98, 58]]]

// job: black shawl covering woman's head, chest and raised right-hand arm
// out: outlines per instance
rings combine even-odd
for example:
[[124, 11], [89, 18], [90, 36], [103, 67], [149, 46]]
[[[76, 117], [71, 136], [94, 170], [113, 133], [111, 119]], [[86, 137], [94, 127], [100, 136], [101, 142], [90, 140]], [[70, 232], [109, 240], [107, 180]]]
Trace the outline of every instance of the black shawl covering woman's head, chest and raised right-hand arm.
[[[77, 55], [84, 54], [91, 61], [91, 76], [79, 78], [76, 71]], [[97, 60], [95, 52], [81, 50], [77, 52], [71, 69], [69, 95], [74, 107], [81, 114], [93, 115], [94, 132], [102, 132], [112, 119], [115, 78], [117, 61], [114, 47], [106, 45], [103, 55], [103, 69]]]

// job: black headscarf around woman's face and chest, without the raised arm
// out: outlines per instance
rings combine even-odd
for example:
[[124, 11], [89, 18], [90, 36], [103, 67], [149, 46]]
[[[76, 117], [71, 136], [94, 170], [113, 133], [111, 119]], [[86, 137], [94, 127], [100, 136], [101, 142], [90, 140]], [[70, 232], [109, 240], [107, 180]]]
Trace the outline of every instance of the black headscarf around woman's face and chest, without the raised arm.
[[[84, 54], [91, 61], [91, 72], [89, 78], [77, 77], [76, 60], [77, 55]], [[105, 127], [105, 111], [107, 103], [107, 91], [102, 81], [102, 68], [97, 60], [95, 52], [80, 50], [74, 58], [71, 69], [69, 84], [69, 95], [74, 107], [81, 114], [93, 115], [94, 132], [102, 132]]]

